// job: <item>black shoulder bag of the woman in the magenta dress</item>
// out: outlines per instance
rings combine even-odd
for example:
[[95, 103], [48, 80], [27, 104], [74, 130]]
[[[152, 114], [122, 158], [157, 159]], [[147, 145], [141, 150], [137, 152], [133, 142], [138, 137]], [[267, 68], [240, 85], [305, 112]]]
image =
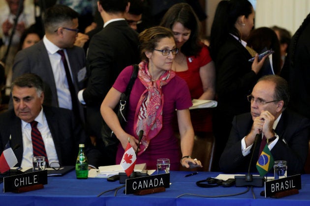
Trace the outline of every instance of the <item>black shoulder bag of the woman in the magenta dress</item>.
[[[125, 123], [127, 122], [126, 115], [128, 110], [128, 103], [129, 103], [129, 95], [132, 89], [132, 86], [134, 84], [134, 81], [136, 80], [138, 76], [138, 70], [139, 66], [137, 64], [133, 65], [133, 73], [130, 77], [129, 83], [127, 85], [127, 88], [124, 93], [121, 95], [119, 106], [116, 106], [118, 110], [115, 110], [115, 113], [117, 113], [118, 119], [121, 123], [122, 128], [124, 127]], [[115, 136], [114, 132], [109, 128], [109, 126], [103, 121], [103, 126], [101, 129], [101, 137], [104, 143], [104, 146], [106, 149], [109, 149], [109, 151], [115, 151], [117, 150], [117, 145], [119, 144], [118, 138]], [[114, 149], [115, 150], [114, 150]]]

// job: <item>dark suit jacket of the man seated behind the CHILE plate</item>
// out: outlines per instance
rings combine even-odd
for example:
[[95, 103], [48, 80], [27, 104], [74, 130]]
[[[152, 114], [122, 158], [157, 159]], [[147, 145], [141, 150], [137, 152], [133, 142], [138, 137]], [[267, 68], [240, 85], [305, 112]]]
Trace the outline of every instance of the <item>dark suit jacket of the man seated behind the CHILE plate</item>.
[[[43, 112], [61, 165], [75, 165], [79, 144], [85, 144], [89, 164], [99, 166], [100, 153], [92, 148], [90, 138], [86, 137], [84, 130], [73, 117], [72, 111], [43, 106]], [[12, 137], [11, 147], [20, 145], [20, 148], [14, 151], [18, 160], [16, 166], [20, 166], [23, 157], [22, 123], [13, 109], [0, 114], [0, 154], [10, 135]]]

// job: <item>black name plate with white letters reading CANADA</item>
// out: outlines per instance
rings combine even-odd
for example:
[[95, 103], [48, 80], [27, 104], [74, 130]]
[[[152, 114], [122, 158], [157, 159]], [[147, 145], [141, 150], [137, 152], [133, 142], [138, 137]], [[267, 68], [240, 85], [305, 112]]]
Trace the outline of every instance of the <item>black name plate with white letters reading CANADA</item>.
[[158, 187], [170, 187], [170, 173], [127, 179], [125, 194]]

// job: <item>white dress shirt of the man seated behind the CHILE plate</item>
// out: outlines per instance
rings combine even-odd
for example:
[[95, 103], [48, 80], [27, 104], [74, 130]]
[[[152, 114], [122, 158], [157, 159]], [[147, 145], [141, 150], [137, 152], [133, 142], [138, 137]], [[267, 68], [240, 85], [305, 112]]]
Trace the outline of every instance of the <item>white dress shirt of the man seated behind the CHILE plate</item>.
[[[59, 162], [54, 140], [48, 127], [43, 108], [41, 108], [39, 115], [34, 120], [38, 122], [37, 129], [41, 133], [49, 163]], [[31, 124], [24, 122], [23, 120], [21, 121], [24, 148], [21, 167], [32, 167], [33, 149], [31, 141]]]

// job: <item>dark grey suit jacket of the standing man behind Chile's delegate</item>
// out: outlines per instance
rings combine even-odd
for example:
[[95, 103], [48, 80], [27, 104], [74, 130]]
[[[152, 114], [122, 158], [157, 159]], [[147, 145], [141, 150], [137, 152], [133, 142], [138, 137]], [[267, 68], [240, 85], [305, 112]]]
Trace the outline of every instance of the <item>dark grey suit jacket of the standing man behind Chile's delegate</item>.
[[[77, 95], [79, 90], [85, 87], [86, 83], [86, 79], [78, 81], [78, 73], [86, 64], [85, 52], [82, 48], [76, 46], [66, 49], [66, 52], [68, 54], [73, 84]], [[26, 73], [33, 73], [42, 78], [44, 82], [43, 104], [59, 107], [55, 78], [43, 40], [16, 54], [12, 79], [14, 80], [16, 77]], [[79, 113], [81, 121], [84, 121], [83, 107], [79, 102], [77, 105], [80, 106]], [[13, 108], [12, 100], [10, 100], [9, 108]]]

